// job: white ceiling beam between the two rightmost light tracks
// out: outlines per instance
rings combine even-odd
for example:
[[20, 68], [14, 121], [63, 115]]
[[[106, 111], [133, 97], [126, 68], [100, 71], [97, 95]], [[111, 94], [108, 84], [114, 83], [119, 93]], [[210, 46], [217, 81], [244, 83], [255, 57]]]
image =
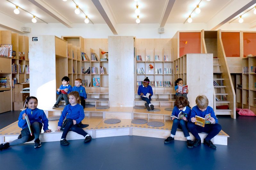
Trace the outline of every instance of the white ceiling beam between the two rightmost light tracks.
[[256, 3], [256, 0], [233, 0], [219, 11], [211, 20], [207, 23], [209, 30], [216, 30], [220, 26], [226, 24], [231, 19], [235, 18], [240, 13], [244, 12], [252, 5]]

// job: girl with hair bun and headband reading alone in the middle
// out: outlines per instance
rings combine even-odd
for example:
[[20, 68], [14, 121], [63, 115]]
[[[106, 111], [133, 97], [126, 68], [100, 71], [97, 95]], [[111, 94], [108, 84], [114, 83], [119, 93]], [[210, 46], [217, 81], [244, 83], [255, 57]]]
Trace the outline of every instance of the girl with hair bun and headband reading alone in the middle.
[[151, 96], [153, 96], [152, 87], [149, 85], [150, 81], [148, 77], [146, 77], [143, 81], [143, 84], [138, 88], [138, 95], [140, 95], [143, 101], [146, 101], [145, 106], [148, 111], [154, 109], [154, 105], [151, 104]]

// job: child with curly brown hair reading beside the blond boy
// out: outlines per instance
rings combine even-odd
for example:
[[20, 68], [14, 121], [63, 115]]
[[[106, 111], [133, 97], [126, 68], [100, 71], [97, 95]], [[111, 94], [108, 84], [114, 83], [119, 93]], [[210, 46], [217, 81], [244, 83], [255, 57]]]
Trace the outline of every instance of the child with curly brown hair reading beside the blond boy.
[[184, 137], [187, 138], [187, 147], [191, 149], [193, 148], [193, 141], [191, 141], [187, 130], [187, 122], [191, 114], [191, 109], [187, 107], [188, 102], [185, 97], [178, 97], [174, 104], [175, 107], [173, 108], [171, 114], [171, 120], [173, 121], [171, 128], [171, 136], [169, 136], [164, 141], [164, 143], [173, 142], [177, 128], [180, 128], [183, 131]]

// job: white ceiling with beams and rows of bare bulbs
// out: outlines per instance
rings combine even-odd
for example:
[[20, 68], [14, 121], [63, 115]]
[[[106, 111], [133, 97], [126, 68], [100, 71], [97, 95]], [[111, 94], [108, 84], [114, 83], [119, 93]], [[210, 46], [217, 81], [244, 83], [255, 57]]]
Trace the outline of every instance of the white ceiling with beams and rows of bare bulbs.
[[[17, 4], [19, 7], [36, 15], [46, 23], [62, 23], [69, 28], [72, 24], [84, 23], [85, 15], [75, 14], [75, 3], [89, 17], [89, 24], [107, 24], [115, 32], [116, 24], [135, 24], [136, 1], [134, 0], [0, 0], [0, 12], [24, 24], [31, 23], [32, 15], [22, 11], [14, 14]], [[75, 3], [74, 3], [75, 2]], [[164, 26], [169, 23], [184, 23], [188, 15], [200, 3], [200, 14], [192, 13], [193, 23], [209, 23], [216, 21], [225, 24], [256, 5], [256, 0], [138, 0], [141, 24], [159, 24]], [[243, 15], [244, 23], [256, 27], [254, 9]], [[221, 17], [216, 18], [218, 14]], [[225, 16], [226, 15], [226, 16]], [[37, 19], [37, 23], [44, 23]], [[238, 19], [232, 23], [238, 23]], [[215, 27], [215, 28], [216, 28]]]

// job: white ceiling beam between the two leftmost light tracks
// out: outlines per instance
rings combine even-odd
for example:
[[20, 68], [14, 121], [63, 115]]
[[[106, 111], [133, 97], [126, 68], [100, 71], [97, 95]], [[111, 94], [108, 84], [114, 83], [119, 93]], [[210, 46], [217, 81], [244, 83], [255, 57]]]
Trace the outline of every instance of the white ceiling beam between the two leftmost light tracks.
[[36, 5], [38, 8], [58, 20], [60, 23], [68, 28], [71, 27], [71, 22], [66, 19], [60, 12], [56, 11], [51, 5], [47, 4], [44, 0], [28, 0], [32, 4]]

